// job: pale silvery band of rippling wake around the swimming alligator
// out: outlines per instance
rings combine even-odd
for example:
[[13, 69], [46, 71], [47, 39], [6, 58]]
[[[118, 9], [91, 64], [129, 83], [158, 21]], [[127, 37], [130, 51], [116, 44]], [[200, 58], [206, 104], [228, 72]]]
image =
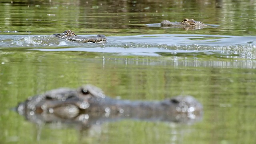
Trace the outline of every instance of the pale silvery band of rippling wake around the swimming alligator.
[[86, 51], [136, 56], [214, 56], [256, 60], [256, 37], [159, 34], [112, 36], [107, 42], [77, 43], [55, 36], [0, 35], [2, 50]]

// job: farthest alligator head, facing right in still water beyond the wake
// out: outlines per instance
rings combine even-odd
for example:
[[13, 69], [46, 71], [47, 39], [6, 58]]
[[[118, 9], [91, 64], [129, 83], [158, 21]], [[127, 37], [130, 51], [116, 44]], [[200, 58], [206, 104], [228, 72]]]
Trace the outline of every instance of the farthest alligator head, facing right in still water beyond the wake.
[[185, 18], [182, 22], [170, 22], [169, 20], [163, 20], [161, 22], [161, 26], [170, 26], [170, 27], [181, 27], [181, 28], [186, 28], [186, 27], [192, 27], [192, 28], [204, 28], [207, 27], [208, 25], [200, 22], [200, 21], [195, 21], [194, 19], [188, 19]]

